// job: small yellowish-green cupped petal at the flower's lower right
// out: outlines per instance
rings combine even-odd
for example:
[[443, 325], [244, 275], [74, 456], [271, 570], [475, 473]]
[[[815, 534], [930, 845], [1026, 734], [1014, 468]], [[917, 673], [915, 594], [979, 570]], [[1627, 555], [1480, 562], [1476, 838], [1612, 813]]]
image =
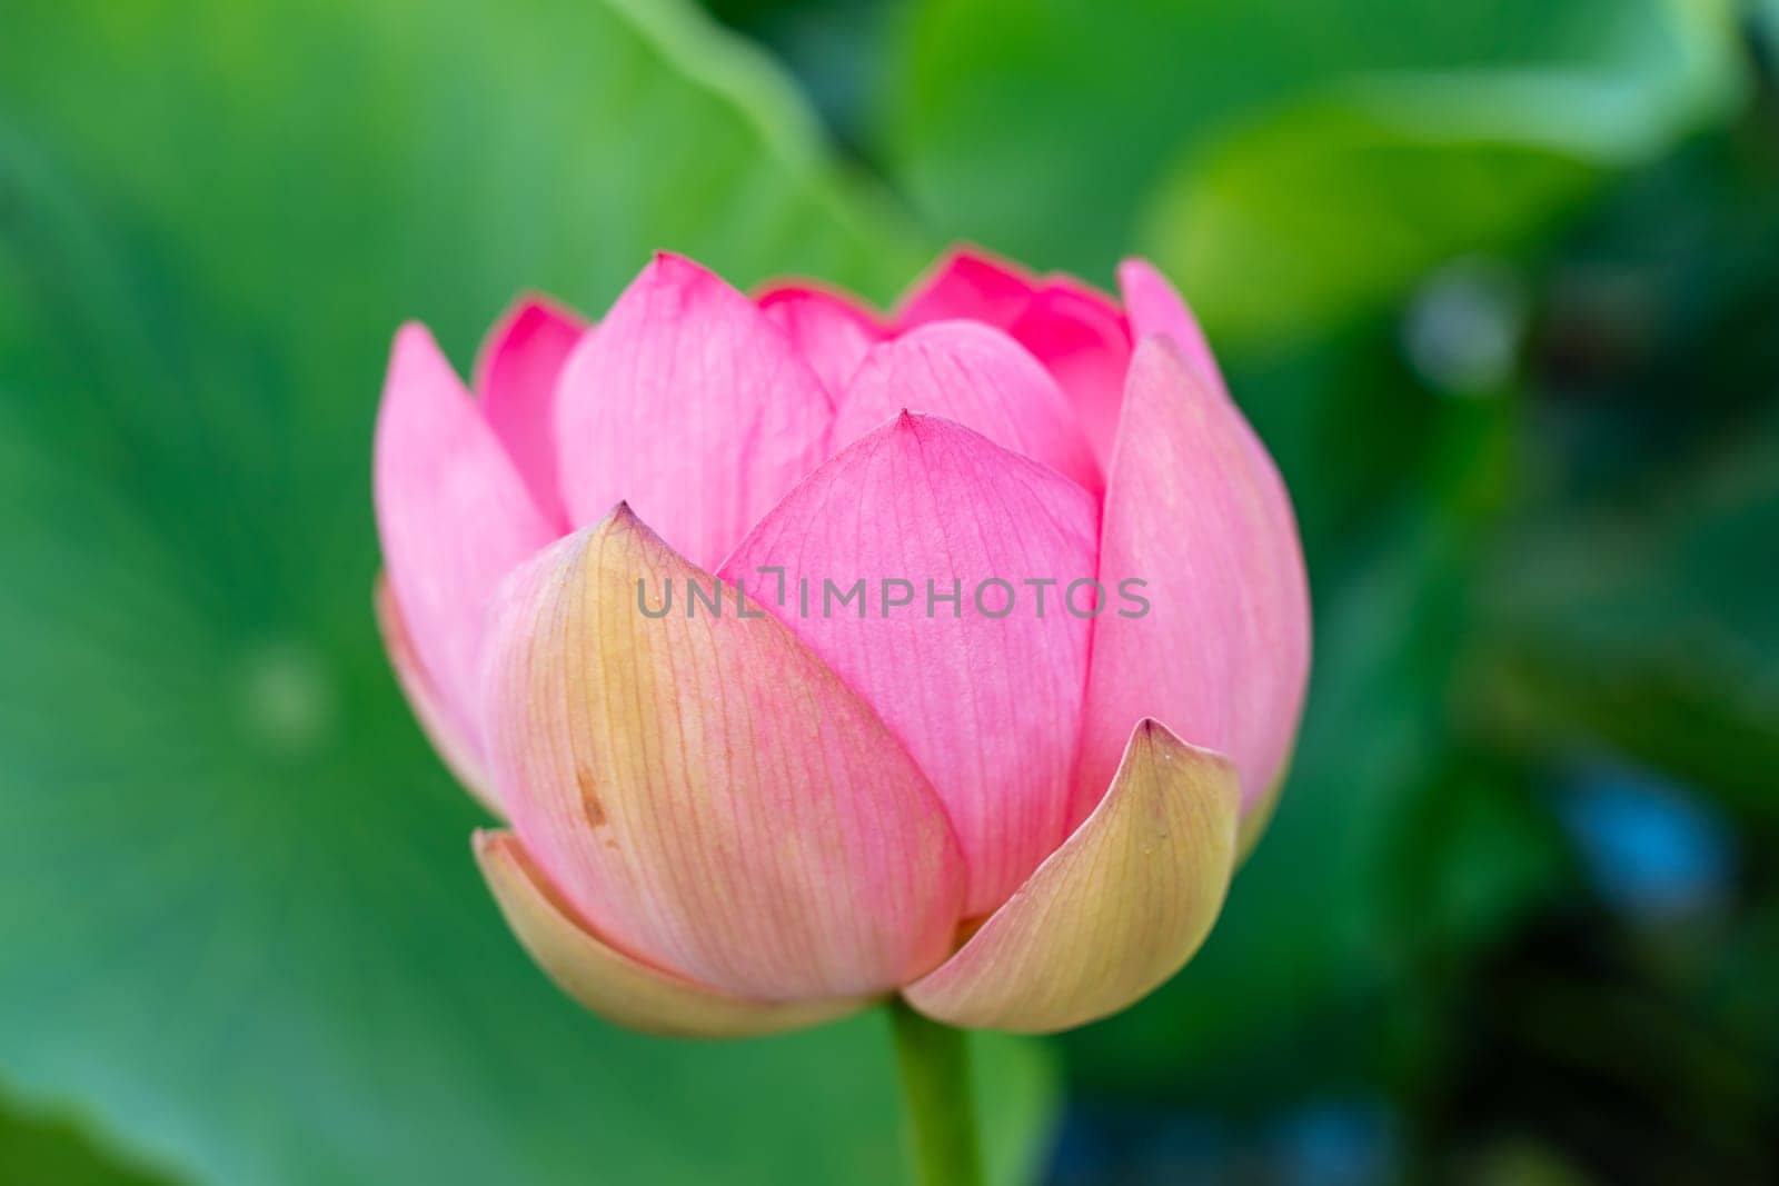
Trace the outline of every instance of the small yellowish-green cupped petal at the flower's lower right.
[[1115, 1014], [1204, 942], [1235, 846], [1229, 761], [1144, 720], [1087, 821], [904, 996], [954, 1026], [1025, 1033]]

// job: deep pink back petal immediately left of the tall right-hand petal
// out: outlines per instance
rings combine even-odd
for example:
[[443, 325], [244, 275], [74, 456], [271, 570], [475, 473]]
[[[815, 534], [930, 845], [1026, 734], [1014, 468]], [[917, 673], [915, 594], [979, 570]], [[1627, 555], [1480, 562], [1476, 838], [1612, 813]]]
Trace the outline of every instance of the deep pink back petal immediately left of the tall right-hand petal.
[[1082, 284], [1050, 279], [1014, 322], [1012, 336], [1055, 375], [1105, 471], [1130, 368], [1130, 327], [1117, 306]]

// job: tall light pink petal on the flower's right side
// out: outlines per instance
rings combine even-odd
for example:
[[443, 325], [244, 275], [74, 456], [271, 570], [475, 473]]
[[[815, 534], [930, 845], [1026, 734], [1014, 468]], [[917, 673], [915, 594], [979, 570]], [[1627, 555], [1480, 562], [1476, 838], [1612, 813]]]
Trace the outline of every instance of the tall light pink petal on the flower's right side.
[[[1131, 359], [1099, 580], [1144, 581], [1094, 624], [1076, 816], [1131, 724], [1156, 717], [1229, 754], [1244, 809], [1283, 773], [1309, 672], [1309, 590], [1290, 501], [1235, 404], [1171, 338]], [[1126, 608], [1130, 606], [1130, 608]]]

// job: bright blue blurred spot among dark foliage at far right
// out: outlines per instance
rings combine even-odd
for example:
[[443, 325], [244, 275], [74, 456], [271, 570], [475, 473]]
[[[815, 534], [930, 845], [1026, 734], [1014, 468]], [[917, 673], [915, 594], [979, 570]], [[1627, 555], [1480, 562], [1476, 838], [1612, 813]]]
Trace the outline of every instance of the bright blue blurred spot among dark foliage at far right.
[[1726, 896], [1731, 829], [1679, 786], [1624, 766], [1587, 766], [1566, 788], [1560, 814], [1601, 896], [1626, 914], [1665, 921]]

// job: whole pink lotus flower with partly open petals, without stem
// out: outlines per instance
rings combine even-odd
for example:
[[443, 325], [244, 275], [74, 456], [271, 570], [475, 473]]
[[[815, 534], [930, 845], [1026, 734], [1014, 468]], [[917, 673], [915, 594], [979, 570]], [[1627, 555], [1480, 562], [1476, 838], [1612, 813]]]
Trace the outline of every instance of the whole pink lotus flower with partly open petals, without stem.
[[1304, 567], [1192, 315], [1119, 281], [959, 252], [879, 317], [662, 254], [596, 327], [521, 302], [473, 395], [400, 331], [388, 649], [568, 992], [1044, 1031], [1203, 942], [1297, 729]]

